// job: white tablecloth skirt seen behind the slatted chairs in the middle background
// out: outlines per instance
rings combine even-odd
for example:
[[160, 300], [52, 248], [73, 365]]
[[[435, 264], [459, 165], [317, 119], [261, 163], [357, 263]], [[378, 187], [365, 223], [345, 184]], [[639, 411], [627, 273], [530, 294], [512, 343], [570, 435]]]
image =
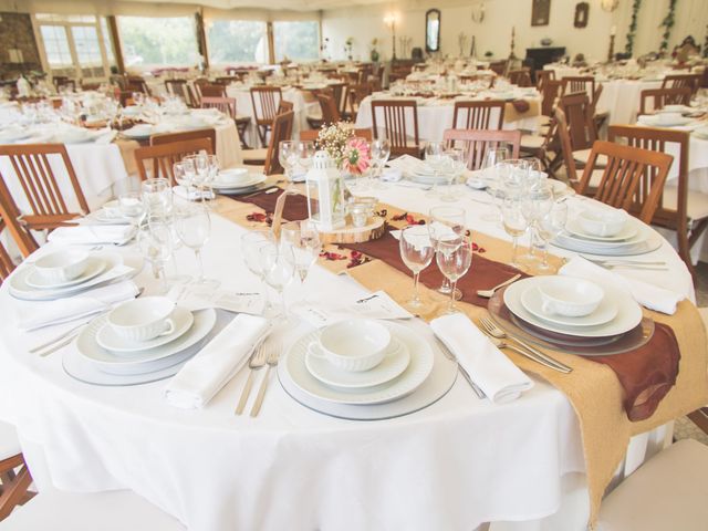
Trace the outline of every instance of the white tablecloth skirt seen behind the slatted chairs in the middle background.
[[[452, 117], [455, 114], [455, 104], [447, 103], [445, 105], [418, 105], [418, 136], [420, 140], [441, 140], [442, 134], [446, 129], [452, 128]], [[414, 126], [413, 121], [409, 117], [410, 113], [406, 114], [406, 131], [413, 135]], [[498, 117], [494, 117], [492, 113], [491, 121], [494, 122]], [[379, 116], [377, 115], [377, 118]], [[377, 123], [378, 128], [383, 132], [383, 115], [381, 116], [381, 123]], [[357, 128], [371, 128], [374, 126], [372, 118], [372, 105], [371, 97], [366, 97], [362, 101], [356, 114], [356, 127]], [[503, 122], [502, 129], [516, 131], [535, 131], [539, 127], [539, 115], [528, 116], [514, 122]]]

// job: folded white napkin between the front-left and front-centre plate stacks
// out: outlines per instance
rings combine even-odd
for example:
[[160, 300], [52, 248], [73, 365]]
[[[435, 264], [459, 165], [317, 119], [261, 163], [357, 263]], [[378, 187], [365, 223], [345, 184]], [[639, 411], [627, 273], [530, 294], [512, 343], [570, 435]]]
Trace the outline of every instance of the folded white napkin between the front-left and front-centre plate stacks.
[[241, 313], [189, 360], [165, 388], [165, 399], [184, 409], [202, 408], [238, 373], [268, 330], [263, 317]]

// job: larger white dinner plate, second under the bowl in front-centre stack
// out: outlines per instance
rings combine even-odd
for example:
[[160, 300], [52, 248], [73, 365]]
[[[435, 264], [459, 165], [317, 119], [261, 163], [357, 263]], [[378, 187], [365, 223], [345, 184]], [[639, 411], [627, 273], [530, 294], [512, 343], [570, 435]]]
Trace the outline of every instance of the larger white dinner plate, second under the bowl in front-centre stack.
[[417, 333], [394, 323], [386, 323], [386, 326], [392, 336], [407, 346], [410, 363], [398, 377], [383, 385], [345, 391], [330, 387], [310, 374], [305, 357], [310, 343], [317, 340], [319, 331], [310, 332], [293, 343], [280, 365], [300, 391], [319, 400], [354, 405], [385, 404], [396, 400], [413, 393], [425, 382], [433, 369], [434, 354], [427, 341]]

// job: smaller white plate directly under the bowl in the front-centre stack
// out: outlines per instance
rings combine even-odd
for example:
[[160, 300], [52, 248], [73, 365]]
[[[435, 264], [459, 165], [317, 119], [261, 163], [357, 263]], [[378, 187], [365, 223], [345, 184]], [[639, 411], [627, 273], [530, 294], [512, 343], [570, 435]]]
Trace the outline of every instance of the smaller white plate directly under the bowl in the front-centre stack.
[[[316, 348], [316, 345], [314, 347]], [[313, 354], [312, 350], [305, 354], [305, 366], [310, 374], [323, 384], [343, 389], [363, 389], [391, 382], [406, 369], [408, 363], [410, 363], [408, 347], [396, 339], [392, 339], [382, 362], [368, 371], [343, 371]]]

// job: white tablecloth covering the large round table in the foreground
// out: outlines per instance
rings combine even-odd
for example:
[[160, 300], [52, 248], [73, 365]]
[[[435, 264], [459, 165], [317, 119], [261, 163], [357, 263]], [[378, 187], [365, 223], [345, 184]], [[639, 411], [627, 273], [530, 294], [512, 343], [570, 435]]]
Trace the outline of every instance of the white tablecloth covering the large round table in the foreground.
[[[431, 205], [418, 189], [392, 186], [378, 195], [410, 212]], [[482, 219], [493, 208], [475, 201], [483, 192], [465, 189], [459, 196], [472, 231], [506, 238]], [[579, 207], [580, 200], [570, 201]], [[220, 199], [219, 208], [226, 212], [228, 200]], [[207, 275], [229, 289], [252, 291], [258, 283], [239, 250], [243, 231], [215, 215], [204, 258]], [[650, 257], [666, 260], [670, 273], [636, 271], [636, 277], [693, 298], [690, 275], [668, 243]], [[178, 261], [180, 273], [196, 272], [186, 249]], [[136, 282], [149, 292], [155, 281], [146, 270]], [[289, 292], [291, 302], [365, 294], [351, 278], [319, 266], [306, 289], [299, 289]], [[577, 419], [566, 397], [540, 378], [506, 405], [478, 399], [457, 378], [423, 410], [353, 421], [306, 409], [277, 379], [259, 417], [235, 416], [247, 376], [241, 371], [207, 407], [184, 410], [164, 400], [165, 382], [92, 386], [63, 372], [61, 351], [45, 358], [29, 354], [28, 337], [10, 319], [15, 304], [7, 285], [0, 288], [0, 309], [8, 316], [0, 321], [0, 418], [18, 427], [40, 490], [132, 489], [196, 531], [469, 531], [486, 521], [498, 522], [493, 530], [585, 529]], [[292, 337], [308, 330], [301, 323]], [[635, 461], [662, 437], [633, 439]]]

